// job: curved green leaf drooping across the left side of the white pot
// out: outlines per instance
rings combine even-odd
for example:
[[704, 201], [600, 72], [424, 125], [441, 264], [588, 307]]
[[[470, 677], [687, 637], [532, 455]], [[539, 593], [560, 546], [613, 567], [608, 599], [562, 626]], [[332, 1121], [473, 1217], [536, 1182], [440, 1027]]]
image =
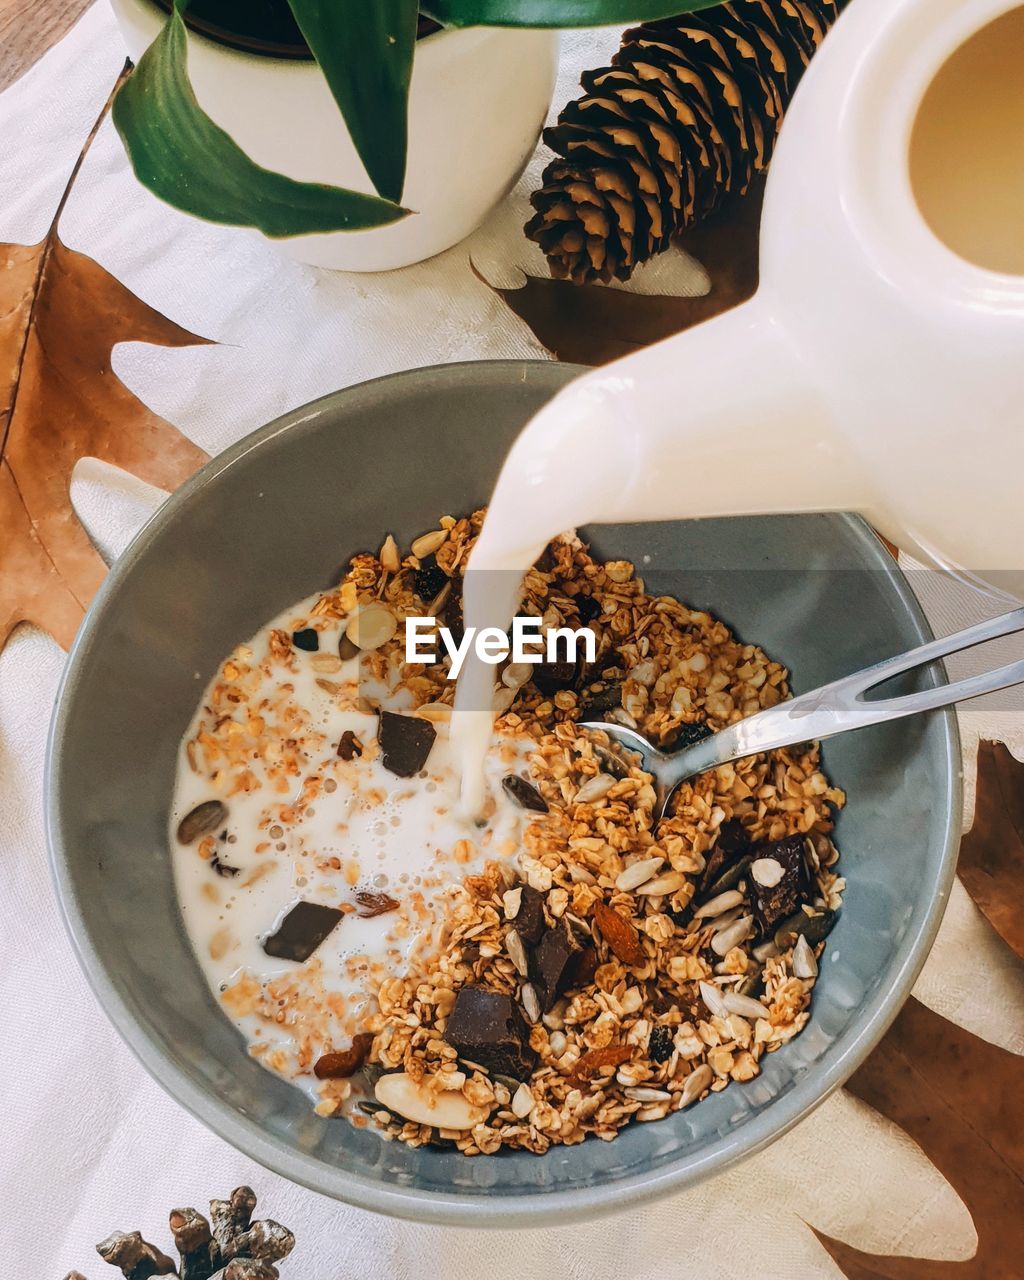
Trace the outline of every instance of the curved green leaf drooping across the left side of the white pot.
[[393, 201], [297, 182], [251, 160], [192, 91], [186, 4], [175, 0], [164, 29], [114, 99], [114, 125], [143, 186], [187, 214], [257, 227], [273, 237], [362, 230], [406, 216]]

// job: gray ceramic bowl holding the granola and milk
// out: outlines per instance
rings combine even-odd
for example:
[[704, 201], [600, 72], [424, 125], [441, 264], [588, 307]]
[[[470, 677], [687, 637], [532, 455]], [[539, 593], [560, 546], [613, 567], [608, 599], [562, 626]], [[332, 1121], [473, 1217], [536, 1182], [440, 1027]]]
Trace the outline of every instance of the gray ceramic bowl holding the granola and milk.
[[[849, 791], [846, 905], [814, 1016], [762, 1075], [616, 1142], [466, 1160], [321, 1120], [262, 1070], [200, 974], [166, 847], [174, 753], [218, 663], [349, 553], [486, 500], [530, 413], [572, 376], [451, 365], [296, 410], [215, 458], [122, 556], [68, 663], [52, 723], [49, 832], [82, 964], [143, 1065], [221, 1137], [317, 1192], [449, 1224], [564, 1222], [687, 1187], [785, 1133], [864, 1059], [920, 969], [954, 874], [951, 714], [828, 744]], [[681, 484], [699, 483], [680, 476]], [[714, 609], [786, 662], [797, 690], [927, 639], [890, 557], [846, 516], [599, 527], [599, 552]], [[927, 678], [941, 678], [932, 673]]]

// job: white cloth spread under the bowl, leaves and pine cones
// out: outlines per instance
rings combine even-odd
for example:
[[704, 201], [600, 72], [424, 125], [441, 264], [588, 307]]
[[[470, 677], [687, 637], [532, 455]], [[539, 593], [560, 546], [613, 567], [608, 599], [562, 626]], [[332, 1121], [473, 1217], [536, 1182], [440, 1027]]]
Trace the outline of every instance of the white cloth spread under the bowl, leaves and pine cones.
[[[571, 96], [604, 35], [566, 42], [556, 101]], [[33, 242], [124, 59], [104, 3], [0, 97], [0, 239]], [[534, 163], [535, 179], [538, 161]], [[498, 262], [527, 255], [520, 225], [530, 174], [477, 233]], [[109, 123], [61, 224], [136, 293], [219, 346], [115, 355], [124, 381], [211, 453], [333, 388], [415, 365], [540, 356], [538, 343], [468, 268], [461, 246], [390, 275], [297, 266], [255, 236], [165, 207], [133, 180]], [[684, 265], [680, 266], [680, 262]], [[664, 268], [682, 273], [684, 260]], [[690, 280], [692, 276], [689, 278]], [[160, 494], [95, 462], [73, 497], [105, 554], [118, 554]], [[940, 593], [937, 630], [960, 605]], [[93, 1244], [115, 1228], [169, 1245], [166, 1212], [251, 1183], [261, 1210], [294, 1229], [296, 1280], [515, 1275], [531, 1280], [832, 1276], [801, 1220], [867, 1249], [972, 1251], [951, 1188], [893, 1126], [845, 1094], [740, 1169], [646, 1210], [559, 1230], [442, 1230], [346, 1208], [266, 1172], [207, 1133], [143, 1073], [78, 972], [58, 914], [42, 829], [46, 726], [64, 657], [22, 628], [0, 655], [0, 1272], [59, 1280], [115, 1275]], [[1005, 705], [1005, 704], [1004, 704]], [[978, 712], [1020, 753], [1019, 710]], [[1024, 1051], [1021, 966], [963, 891], [918, 986], [929, 1005]]]

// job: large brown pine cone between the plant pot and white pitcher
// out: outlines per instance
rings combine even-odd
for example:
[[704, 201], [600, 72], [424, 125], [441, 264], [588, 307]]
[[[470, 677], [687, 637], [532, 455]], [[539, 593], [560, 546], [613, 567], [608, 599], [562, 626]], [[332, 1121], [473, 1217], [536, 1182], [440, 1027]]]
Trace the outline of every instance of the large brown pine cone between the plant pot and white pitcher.
[[847, 0], [731, 0], [622, 37], [544, 131], [558, 154], [526, 234], [552, 275], [627, 280], [768, 168], [786, 106]]

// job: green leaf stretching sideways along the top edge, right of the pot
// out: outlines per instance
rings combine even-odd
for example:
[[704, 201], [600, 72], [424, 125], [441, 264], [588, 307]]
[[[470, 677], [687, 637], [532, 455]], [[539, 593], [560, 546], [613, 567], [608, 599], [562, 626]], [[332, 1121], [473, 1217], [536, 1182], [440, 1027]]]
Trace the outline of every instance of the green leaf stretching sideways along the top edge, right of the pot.
[[718, 0], [424, 0], [447, 27], [612, 27], [709, 9]]

